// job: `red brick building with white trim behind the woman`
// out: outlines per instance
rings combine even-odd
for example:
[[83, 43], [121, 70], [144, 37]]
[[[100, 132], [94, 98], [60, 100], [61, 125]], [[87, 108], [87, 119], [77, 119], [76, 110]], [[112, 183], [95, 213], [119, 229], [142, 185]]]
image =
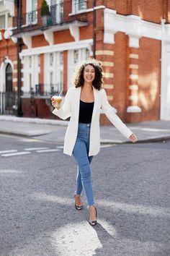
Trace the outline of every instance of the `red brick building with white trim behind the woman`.
[[[0, 22], [6, 2], [0, 1]], [[13, 30], [1, 27], [0, 91], [7, 88], [8, 64], [17, 90], [21, 38], [24, 116], [51, 118], [50, 95], [66, 93], [77, 65], [95, 56], [109, 103], [123, 121], [170, 119], [170, 0], [48, 0], [46, 17], [42, 0], [21, 2], [20, 19], [17, 6], [9, 8]], [[104, 116], [102, 123], [108, 124]]]

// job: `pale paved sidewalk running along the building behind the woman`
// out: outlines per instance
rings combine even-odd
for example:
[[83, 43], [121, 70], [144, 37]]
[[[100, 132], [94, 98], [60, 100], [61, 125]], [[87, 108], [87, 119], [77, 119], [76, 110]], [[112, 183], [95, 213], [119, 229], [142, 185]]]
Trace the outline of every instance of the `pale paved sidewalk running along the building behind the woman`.
[[[68, 121], [33, 119], [17, 116], [0, 116], [0, 133], [33, 137], [63, 143]], [[127, 125], [138, 137], [138, 142], [154, 142], [170, 139], [170, 121], [145, 121]], [[101, 126], [102, 144], [129, 142], [113, 126]]]

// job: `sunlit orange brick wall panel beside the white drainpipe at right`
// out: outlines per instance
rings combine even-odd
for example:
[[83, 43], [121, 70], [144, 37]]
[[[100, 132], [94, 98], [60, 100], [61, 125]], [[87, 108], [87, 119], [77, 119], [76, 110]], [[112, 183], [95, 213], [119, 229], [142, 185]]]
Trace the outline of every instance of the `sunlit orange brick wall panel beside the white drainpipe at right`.
[[157, 120], [160, 113], [161, 42], [141, 38], [139, 48], [139, 106], [141, 121]]

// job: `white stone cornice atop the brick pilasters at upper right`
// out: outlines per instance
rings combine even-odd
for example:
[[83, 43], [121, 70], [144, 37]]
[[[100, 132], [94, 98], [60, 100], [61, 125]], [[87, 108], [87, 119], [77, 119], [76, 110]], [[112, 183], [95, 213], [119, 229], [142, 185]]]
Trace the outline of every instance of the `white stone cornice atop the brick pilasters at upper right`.
[[[166, 40], [170, 43], [170, 27], [165, 25]], [[138, 48], [138, 39], [141, 37], [161, 40], [160, 24], [141, 20], [136, 15], [120, 15], [115, 10], [104, 9], [104, 43], [115, 43], [114, 35], [117, 32], [129, 35], [130, 47]]]

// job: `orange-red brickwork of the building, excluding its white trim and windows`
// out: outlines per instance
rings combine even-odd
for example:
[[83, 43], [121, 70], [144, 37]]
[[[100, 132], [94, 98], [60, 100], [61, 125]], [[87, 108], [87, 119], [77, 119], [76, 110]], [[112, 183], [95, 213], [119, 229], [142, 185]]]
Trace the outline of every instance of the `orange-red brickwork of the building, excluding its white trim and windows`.
[[[41, 7], [42, 0], [38, 2], [38, 9]], [[170, 22], [170, 0], [97, 0], [97, 6], [104, 5], [107, 8], [115, 9], [117, 14], [122, 15], [138, 15], [142, 20], [159, 23], [162, 18], [166, 22]], [[87, 8], [93, 7], [93, 1], [87, 1]], [[64, 1], [64, 16], [68, 17], [71, 13], [71, 1]], [[15, 10], [16, 12], [17, 10]], [[22, 1], [22, 12], [26, 12], [25, 1]], [[88, 25], [79, 28], [80, 40], [93, 38], [96, 33], [96, 59], [103, 62], [104, 69], [104, 88], [107, 91], [109, 103], [117, 108], [117, 114], [122, 121], [146, 121], [159, 119], [160, 113], [160, 77], [161, 77], [161, 41], [151, 38], [140, 38], [139, 48], [129, 48], [128, 35], [125, 33], [115, 34], [115, 44], [103, 43], [104, 27], [103, 27], [103, 9], [98, 9], [97, 25], [94, 28], [93, 12], [86, 13]], [[81, 18], [83, 14], [77, 16]], [[73, 20], [73, 16], [69, 17]], [[94, 30], [93, 30], [94, 29]], [[73, 42], [74, 39], [69, 30], [61, 30], [53, 33], [54, 44]], [[32, 47], [48, 46], [44, 35], [35, 35], [32, 37]], [[9, 59], [14, 60], [14, 69], [17, 69], [17, 48], [12, 40], [0, 41], [0, 61], [5, 55]], [[27, 48], [22, 46], [22, 49]], [[130, 59], [130, 54], [138, 54], [138, 59]], [[68, 52], [63, 52], [63, 88], [67, 90], [68, 80]], [[131, 65], [131, 66], [130, 66]], [[138, 69], [133, 66], [137, 65]], [[44, 55], [40, 54], [40, 83], [43, 83], [44, 74]], [[134, 68], [135, 67], [135, 68]], [[138, 106], [142, 112], [138, 114], [128, 114], [127, 108], [130, 106], [130, 74], [138, 74]], [[17, 72], [14, 73], [17, 78]], [[17, 80], [14, 80], [14, 88], [17, 88]], [[134, 92], [133, 92], [134, 93]], [[45, 101], [32, 102], [32, 112], [29, 108], [24, 107], [25, 115], [39, 117], [49, 117], [49, 106], [45, 105]], [[42, 111], [43, 108], [43, 111]], [[44, 113], [42, 115], [42, 112]], [[40, 114], [41, 113], [41, 114]], [[109, 124], [107, 118], [101, 116], [102, 124]]]

